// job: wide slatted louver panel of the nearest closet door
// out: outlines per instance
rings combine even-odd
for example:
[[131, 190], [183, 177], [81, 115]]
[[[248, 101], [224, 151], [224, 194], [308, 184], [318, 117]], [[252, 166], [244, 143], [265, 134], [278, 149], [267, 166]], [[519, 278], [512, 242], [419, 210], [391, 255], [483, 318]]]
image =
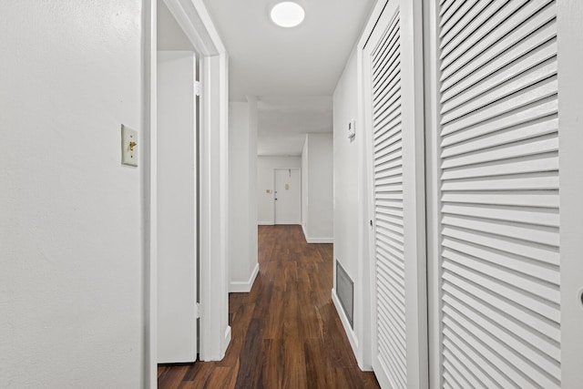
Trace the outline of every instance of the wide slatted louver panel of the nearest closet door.
[[437, 4], [434, 373], [445, 388], [557, 388], [557, 5]]

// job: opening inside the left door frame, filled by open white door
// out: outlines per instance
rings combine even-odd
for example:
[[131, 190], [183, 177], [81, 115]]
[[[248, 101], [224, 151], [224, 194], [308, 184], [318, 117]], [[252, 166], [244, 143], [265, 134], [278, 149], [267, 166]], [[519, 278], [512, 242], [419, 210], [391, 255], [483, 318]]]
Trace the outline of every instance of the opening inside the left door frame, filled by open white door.
[[198, 115], [194, 46], [158, 1], [158, 363], [198, 353]]

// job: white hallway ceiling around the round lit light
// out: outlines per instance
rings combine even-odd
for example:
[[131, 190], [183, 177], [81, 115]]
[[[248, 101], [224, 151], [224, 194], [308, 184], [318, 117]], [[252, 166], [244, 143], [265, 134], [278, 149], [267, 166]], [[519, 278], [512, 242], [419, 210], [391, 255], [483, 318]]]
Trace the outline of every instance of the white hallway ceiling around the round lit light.
[[259, 98], [260, 155], [300, 155], [332, 131], [332, 93], [375, 0], [295, 0], [302, 25], [275, 26], [278, 0], [204, 0], [230, 56], [230, 101]]

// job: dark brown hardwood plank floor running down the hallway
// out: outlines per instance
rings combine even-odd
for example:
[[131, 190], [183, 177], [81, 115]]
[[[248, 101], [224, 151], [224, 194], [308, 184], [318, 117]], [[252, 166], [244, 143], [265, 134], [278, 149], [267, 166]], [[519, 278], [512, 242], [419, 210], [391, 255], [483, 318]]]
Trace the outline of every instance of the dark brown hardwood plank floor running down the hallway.
[[159, 366], [159, 388], [378, 388], [332, 304], [332, 244], [306, 243], [300, 226], [260, 226], [259, 262], [251, 292], [230, 294], [225, 358]]

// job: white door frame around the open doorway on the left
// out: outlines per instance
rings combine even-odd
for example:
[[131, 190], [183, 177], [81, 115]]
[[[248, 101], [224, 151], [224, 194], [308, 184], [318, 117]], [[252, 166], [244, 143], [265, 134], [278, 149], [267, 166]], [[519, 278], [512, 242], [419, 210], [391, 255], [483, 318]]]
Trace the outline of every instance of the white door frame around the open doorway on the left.
[[[199, 57], [199, 358], [220, 360], [230, 343], [228, 258], [228, 55], [202, 0], [164, 0]], [[144, 386], [157, 379], [157, 2], [143, 2]], [[213, 260], [210, 261], [210, 258]]]

